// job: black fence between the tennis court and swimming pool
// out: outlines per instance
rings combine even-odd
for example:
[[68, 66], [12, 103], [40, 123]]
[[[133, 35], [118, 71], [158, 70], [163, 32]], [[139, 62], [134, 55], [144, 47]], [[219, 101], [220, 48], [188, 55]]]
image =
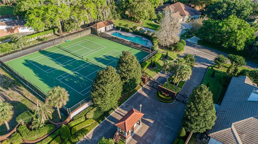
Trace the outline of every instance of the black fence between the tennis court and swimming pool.
[[134, 48], [144, 50], [148, 53], [154, 52], [154, 49], [151, 48], [151, 47], [147, 47], [147, 46], [132, 42], [130, 40], [125, 40], [123, 38], [119, 38], [119, 37], [116, 37], [116, 36], [112, 36], [112, 35], [109, 35], [107, 33], [102, 33], [102, 32], [99, 32], [98, 30], [93, 29], [93, 28], [91, 29], [91, 33], [94, 34], [94, 35], [98, 35], [98, 36], [101, 36], [103, 38], [112, 40], [112, 41], [117, 42], [117, 43], [125, 44], [127, 46], [131, 46], [131, 47], [134, 47]]

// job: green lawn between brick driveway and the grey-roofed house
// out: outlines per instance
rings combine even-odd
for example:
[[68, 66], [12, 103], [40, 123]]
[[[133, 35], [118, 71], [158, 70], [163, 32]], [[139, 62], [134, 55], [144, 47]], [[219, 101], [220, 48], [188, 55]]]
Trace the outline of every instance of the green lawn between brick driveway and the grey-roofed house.
[[[215, 65], [212, 65], [208, 68], [207, 73], [204, 77], [202, 84], [207, 85], [207, 83], [209, 83], [209, 89], [213, 94], [213, 102], [215, 104], [218, 104], [220, 100], [222, 100], [221, 98], [224, 96], [224, 93], [226, 91], [226, 89], [223, 90], [223, 86], [221, 85], [221, 78], [227, 75], [226, 71], [230, 65], [231, 64], [226, 64], [225, 66], [222, 66], [221, 69], [218, 69]], [[216, 71], [215, 78], [211, 77], [213, 69]], [[239, 70], [242, 69], [252, 70], [246, 67], [239, 68]]]

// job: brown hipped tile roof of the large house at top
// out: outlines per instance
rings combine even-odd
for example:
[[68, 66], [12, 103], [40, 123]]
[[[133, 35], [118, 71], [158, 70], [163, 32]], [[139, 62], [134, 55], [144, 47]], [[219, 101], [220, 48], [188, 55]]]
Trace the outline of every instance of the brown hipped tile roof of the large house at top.
[[173, 7], [174, 7], [174, 12], [179, 12], [180, 15], [182, 16], [187, 16], [187, 15], [200, 15], [201, 12], [197, 11], [194, 8], [191, 8], [187, 5], [184, 5], [180, 2], [174, 3], [174, 4], [165, 4], [163, 6], [157, 7], [156, 11], [163, 11], [165, 10], [166, 7], [168, 7], [170, 9], [170, 11], [172, 11]]

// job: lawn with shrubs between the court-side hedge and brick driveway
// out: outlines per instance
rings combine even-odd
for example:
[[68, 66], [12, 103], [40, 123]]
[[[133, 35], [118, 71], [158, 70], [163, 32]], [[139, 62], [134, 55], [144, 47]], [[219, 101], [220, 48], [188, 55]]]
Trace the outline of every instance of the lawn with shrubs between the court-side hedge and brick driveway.
[[[159, 51], [163, 51], [163, 49], [159, 49]], [[182, 52], [184, 51], [184, 49], [179, 52], [179, 53], [174, 53], [174, 51], [168, 51], [168, 57], [169, 57], [169, 60], [174, 60], [176, 57], [178, 57]], [[162, 66], [163, 66], [163, 62], [164, 60], [162, 59], [163, 56], [166, 55], [166, 52], [162, 54], [161, 58], [157, 61], [157, 66], [158, 68], [156, 69], [146, 69], [144, 72], [149, 75], [151, 78], [155, 77], [161, 70], [162, 70]]]

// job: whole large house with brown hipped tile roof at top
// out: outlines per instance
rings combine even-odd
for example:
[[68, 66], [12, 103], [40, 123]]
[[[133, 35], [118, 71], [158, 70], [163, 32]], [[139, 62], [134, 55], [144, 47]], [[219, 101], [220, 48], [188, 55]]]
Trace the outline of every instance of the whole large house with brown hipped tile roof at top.
[[187, 21], [188, 18], [197, 19], [201, 15], [201, 12], [199, 12], [196, 9], [191, 8], [187, 5], [184, 5], [180, 2], [177, 2], [177, 3], [174, 3], [174, 4], [165, 4], [163, 6], [157, 7], [155, 9], [156, 14], [158, 14], [159, 12], [163, 13], [165, 11], [166, 7], [169, 8], [169, 11], [174, 12], [174, 16], [175, 15], [177, 15], [177, 16], [180, 15], [179, 16], [179, 22], [185, 22], [185, 21]]

